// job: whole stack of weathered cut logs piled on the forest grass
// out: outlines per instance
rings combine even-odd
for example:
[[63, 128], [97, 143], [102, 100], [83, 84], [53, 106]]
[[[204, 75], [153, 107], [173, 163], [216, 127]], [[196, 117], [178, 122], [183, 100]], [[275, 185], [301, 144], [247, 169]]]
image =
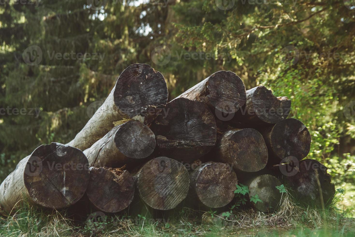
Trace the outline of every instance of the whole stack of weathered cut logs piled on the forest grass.
[[251, 205], [262, 212], [280, 203], [282, 183], [298, 200], [332, 200], [327, 168], [302, 160], [311, 136], [287, 119], [287, 97], [264, 86], [246, 91], [234, 72], [218, 71], [167, 102], [160, 72], [129, 66], [72, 141], [39, 146], [18, 163], [1, 184], [1, 212], [85, 199], [115, 213], [136, 205], [133, 198], [158, 210], [187, 202], [209, 210], [231, 203], [238, 183], [258, 195], [262, 201]]

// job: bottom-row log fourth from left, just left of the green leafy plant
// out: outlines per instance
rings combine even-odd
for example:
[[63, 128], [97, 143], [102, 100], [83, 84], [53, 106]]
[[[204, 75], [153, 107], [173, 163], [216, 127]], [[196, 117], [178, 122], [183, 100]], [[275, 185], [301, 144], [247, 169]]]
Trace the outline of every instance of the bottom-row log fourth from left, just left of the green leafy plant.
[[190, 173], [190, 199], [208, 208], [220, 208], [231, 202], [237, 176], [225, 163], [206, 162]]

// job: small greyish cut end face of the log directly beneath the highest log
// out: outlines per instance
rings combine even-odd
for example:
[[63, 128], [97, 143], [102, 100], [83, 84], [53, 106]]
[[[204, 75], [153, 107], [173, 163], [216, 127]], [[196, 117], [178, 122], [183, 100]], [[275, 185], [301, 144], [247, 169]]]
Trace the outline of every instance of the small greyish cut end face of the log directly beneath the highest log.
[[115, 133], [117, 149], [129, 158], [146, 158], [154, 151], [155, 135], [148, 126], [130, 120], [118, 128]]

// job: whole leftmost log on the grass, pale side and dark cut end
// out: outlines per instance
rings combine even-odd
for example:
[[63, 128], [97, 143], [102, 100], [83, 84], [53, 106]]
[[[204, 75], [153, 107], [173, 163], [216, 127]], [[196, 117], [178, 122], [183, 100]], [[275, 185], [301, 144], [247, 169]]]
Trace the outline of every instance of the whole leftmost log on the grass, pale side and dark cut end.
[[74, 147], [52, 142], [23, 158], [0, 186], [0, 209], [7, 214], [24, 202], [44, 208], [76, 203], [89, 181], [88, 160]]

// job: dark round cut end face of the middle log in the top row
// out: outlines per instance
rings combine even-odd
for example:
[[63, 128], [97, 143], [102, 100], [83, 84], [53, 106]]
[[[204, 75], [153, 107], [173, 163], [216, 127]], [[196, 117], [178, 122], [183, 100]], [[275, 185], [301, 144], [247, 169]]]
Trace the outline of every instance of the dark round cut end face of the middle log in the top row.
[[234, 72], [215, 72], [208, 77], [206, 87], [208, 94], [204, 101], [219, 112], [235, 113], [245, 104], [244, 83]]

